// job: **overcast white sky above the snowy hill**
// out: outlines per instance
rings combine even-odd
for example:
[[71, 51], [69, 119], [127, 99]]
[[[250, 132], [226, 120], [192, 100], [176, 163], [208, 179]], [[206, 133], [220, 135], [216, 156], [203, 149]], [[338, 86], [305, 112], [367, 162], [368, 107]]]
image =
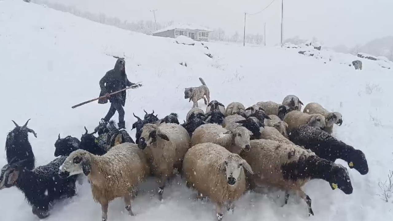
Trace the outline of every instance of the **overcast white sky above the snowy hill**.
[[[105, 13], [121, 20], [152, 20], [158, 9], [159, 22], [194, 23], [243, 32], [244, 12], [255, 13], [272, 0], [50, 0], [83, 11]], [[284, 0], [284, 36], [316, 37], [328, 46], [364, 44], [393, 35], [393, 0]], [[280, 37], [281, 0], [258, 15], [248, 16], [247, 33], [263, 33], [276, 44]]]

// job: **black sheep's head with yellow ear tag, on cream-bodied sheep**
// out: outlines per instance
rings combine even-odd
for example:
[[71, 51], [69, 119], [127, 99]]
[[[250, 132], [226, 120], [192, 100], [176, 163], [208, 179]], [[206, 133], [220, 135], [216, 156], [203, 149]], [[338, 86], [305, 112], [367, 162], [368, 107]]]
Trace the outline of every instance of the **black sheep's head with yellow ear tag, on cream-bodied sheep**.
[[339, 164], [333, 164], [329, 173], [329, 184], [332, 190], [339, 188], [345, 194], [351, 194], [353, 191], [351, 179], [349, 179], [348, 171], [346, 168]]

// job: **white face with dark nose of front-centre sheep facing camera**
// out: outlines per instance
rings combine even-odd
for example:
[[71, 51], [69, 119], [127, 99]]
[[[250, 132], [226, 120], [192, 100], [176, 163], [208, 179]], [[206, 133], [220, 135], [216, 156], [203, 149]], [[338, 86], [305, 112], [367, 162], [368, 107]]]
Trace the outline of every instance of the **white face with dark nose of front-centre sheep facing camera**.
[[241, 179], [241, 175], [244, 174], [244, 169], [252, 172], [250, 165], [243, 160], [239, 155], [230, 155], [224, 161], [226, 182], [230, 186], [234, 186], [238, 180]]

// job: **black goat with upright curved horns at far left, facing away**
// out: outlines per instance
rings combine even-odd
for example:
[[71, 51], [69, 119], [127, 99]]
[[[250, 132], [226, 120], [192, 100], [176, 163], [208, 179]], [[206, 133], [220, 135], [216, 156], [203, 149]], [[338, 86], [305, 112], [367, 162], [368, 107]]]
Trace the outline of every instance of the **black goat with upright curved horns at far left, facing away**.
[[31, 149], [28, 133], [32, 133], [35, 137], [37, 137], [37, 134], [27, 127], [29, 120], [22, 127], [15, 123], [15, 121], [12, 121], [15, 124], [15, 128], [7, 135], [6, 155], [8, 163], [11, 159], [15, 159], [16, 161], [23, 160], [22, 166], [27, 169], [33, 169], [35, 166], [35, 157]]

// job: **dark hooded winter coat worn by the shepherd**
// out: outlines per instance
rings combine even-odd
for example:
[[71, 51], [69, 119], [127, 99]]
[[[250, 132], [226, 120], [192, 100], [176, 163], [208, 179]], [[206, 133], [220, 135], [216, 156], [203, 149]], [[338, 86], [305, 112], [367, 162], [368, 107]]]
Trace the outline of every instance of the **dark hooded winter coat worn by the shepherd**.
[[[110, 94], [126, 87], [130, 87], [131, 85], [134, 85], [134, 83], [131, 83], [127, 79], [127, 74], [125, 73], [125, 61], [124, 59], [119, 58], [116, 61], [115, 67], [108, 71], [107, 74], [105, 74], [105, 76], [99, 81], [99, 87], [101, 88], [99, 96], [105, 96], [107, 93]], [[118, 102], [124, 106], [126, 95], [127, 92], [124, 90], [110, 96], [109, 101], [111, 103]], [[108, 103], [108, 99], [99, 99], [98, 103]]]

